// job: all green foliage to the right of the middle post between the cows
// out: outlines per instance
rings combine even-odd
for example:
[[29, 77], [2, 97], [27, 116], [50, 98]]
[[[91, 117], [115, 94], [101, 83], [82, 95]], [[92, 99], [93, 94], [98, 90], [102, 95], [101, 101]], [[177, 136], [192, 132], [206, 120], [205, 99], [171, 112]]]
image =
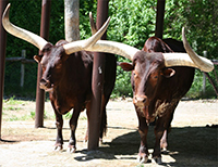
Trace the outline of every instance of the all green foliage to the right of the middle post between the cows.
[[[109, 39], [121, 41], [138, 49], [142, 49], [146, 39], [154, 36], [156, 22], [156, 1], [132, 1], [113, 0], [110, 1], [111, 23], [109, 27]], [[194, 50], [203, 55], [203, 51], [208, 52], [208, 59], [217, 59], [218, 53], [218, 3], [205, 0], [167, 0], [164, 38], [174, 38], [181, 40], [181, 29], [186, 27], [186, 36]], [[111, 29], [110, 29], [111, 28]], [[119, 62], [120, 57], [118, 59]], [[129, 74], [119, 72], [117, 76], [113, 95], [126, 95], [122, 87], [131, 88], [126, 80]], [[216, 68], [217, 70], [217, 68]], [[215, 75], [209, 74], [213, 78]], [[187, 98], [199, 98], [202, 95], [203, 74], [196, 70], [195, 79]], [[123, 85], [122, 85], [123, 84]], [[128, 91], [128, 89], [125, 89]], [[119, 92], [119, 93], [118, 93]], [[208, 97], [216, 97], [208, 79], [206, 82]]]

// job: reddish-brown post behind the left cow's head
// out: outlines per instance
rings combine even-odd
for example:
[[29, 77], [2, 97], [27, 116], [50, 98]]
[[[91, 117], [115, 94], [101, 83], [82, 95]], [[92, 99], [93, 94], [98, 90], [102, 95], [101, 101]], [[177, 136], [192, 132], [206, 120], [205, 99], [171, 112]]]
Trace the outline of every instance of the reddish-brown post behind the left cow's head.
[[[51, 0], [41, 1], [40, 36], [46, 40], [48, 40], [49, 37], [50, 5], [51, 5]], [[35, 128], [44, 127], [45, 91], [39, 88], [41, 74], [43, 74], [41, 66], [40, 64], [38, 64]]]

